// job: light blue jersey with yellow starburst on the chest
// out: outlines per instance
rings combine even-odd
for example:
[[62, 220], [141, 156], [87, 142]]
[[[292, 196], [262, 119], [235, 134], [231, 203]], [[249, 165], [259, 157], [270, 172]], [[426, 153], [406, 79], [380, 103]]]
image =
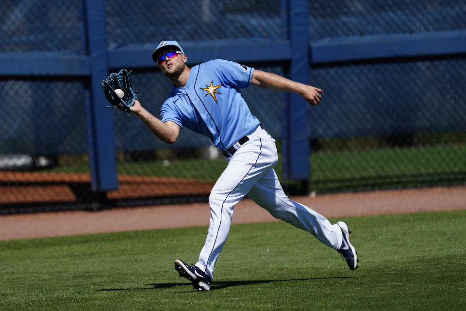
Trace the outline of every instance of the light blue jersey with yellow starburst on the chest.
[[186, 86], [174, 86], [162, 105], [161, 120], [207, 136], [218, 149], [229, 148], [260, 123], [239, 91], [250, 86], [253, 71], [221, 59], [191, 68]]

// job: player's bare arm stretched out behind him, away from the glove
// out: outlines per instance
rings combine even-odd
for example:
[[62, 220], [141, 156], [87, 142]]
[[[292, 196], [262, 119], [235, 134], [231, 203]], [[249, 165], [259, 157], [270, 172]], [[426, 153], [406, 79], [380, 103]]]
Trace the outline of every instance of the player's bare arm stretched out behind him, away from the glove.
[[252, 73], [251, 84], [261, 88], [300, 94], [306, 102], [313, 106], [319, 104], [320, 99], [322, 98], [322, 94], [324, 93], [324, 91], [322, 91], [320, 88], [308, 86], [284, 78], [278, 74], [257, 69]]

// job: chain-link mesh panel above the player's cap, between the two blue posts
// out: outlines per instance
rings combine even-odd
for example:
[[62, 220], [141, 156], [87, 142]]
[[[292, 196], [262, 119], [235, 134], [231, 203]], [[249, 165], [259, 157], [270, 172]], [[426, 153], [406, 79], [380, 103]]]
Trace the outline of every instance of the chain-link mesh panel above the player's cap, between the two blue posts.
[[[277, 38], [282, 27], [281, 1], [105, 0], [107, 43], [110, 48], [161, 40]], [[128, 15], [137, 18], [128, 18]]]

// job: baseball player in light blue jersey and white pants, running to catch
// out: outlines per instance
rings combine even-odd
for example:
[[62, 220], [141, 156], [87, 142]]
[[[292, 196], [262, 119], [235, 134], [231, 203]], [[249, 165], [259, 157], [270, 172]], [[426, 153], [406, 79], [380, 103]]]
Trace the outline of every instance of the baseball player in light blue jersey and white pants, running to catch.
[[227, 60], [211, 60], [189, 68], [187, 56], [177, 41], [162, 41], [152, 59], [173, 82], [171, 94], [162, 105], [161, 119], [139, 101], [131, 107], [159, 139], [174, 143], [183, 127], [207, 136], [225, 156], [228, 165], [209, 196], [210, 225], [205, 244], [194, 266], [175, 260], [180, 276], [199, 291], [209, 291], [214, 267], [227, 240], [233, 209], [245, 195], [272, 216], [314, 235], [337, 250], [351, 270], [358, 267], [356, 249], [344, 222], [332, 225], [309, 207], [291, 201], [283, 192], [273, 167], [278, 161], [275, 139], [251, 115], [240, 89], [258, 86], [294, 92], [311, 105], [320, 102], [323, 91], [282, 76]]

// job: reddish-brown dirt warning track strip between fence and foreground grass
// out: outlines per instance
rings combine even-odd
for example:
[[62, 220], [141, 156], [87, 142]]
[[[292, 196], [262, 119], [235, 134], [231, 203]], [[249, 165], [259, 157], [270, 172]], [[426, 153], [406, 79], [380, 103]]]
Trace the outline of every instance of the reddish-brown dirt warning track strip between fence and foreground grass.
[[[466, 208], [466, 187], [442, 187], [292, 197], [328, 218]], [[0, 215], [0, 240], [209, 225], [207, 203]], [[249, 199], [233, 224], [278, 221]]]

